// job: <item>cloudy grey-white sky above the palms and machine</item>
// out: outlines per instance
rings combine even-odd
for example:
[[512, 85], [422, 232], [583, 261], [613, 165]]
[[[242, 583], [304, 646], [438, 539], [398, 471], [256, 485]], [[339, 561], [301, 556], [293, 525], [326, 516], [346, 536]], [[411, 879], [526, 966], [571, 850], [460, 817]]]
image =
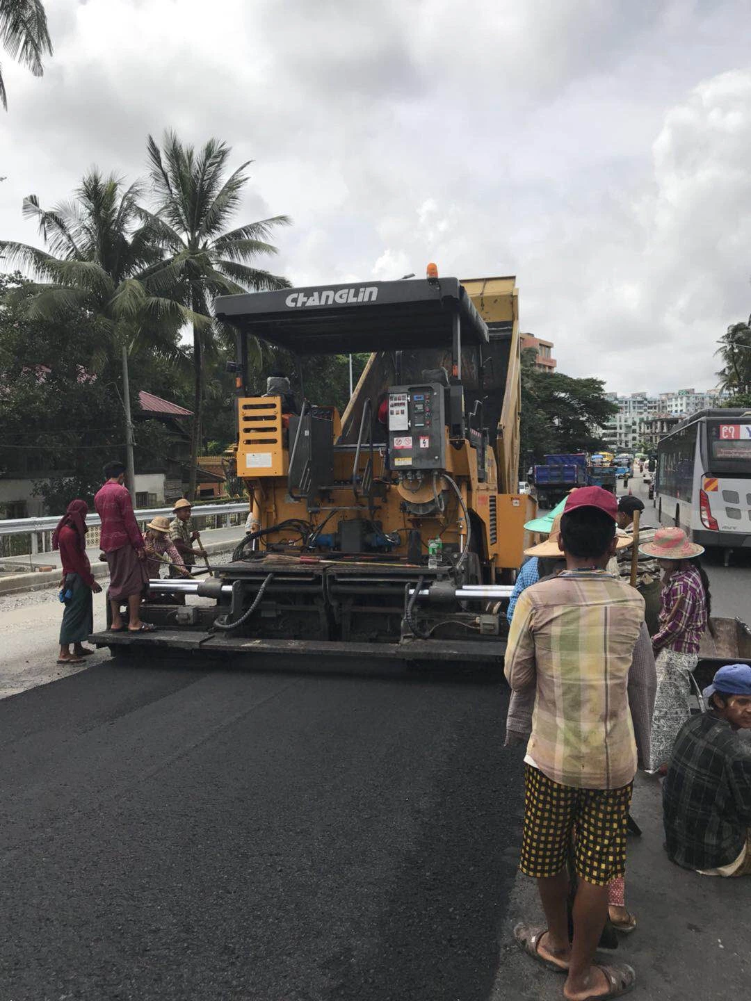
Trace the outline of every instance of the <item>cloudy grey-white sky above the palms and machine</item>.
[[147, 133], [254, 160], [295, 284], [516, 274], [522, 327], [608, 388], [715, 384], [751, 312], [748, 0], [48, 0], [2, 59], [0, 235]]

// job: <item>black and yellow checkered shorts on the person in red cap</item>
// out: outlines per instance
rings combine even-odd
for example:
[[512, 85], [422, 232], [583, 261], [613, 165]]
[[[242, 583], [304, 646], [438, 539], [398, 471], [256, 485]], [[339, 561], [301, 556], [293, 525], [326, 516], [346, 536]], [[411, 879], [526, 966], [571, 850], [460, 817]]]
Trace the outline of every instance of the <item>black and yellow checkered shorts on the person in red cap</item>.
[[572, 837], [580, 879], [607, 886], [626, 872], [626, 819], [632, 783], [620, 789], [576, 789], [525, 765], [525, 815], [519, 868], [527, 876], [556, 876], [566, 866]]

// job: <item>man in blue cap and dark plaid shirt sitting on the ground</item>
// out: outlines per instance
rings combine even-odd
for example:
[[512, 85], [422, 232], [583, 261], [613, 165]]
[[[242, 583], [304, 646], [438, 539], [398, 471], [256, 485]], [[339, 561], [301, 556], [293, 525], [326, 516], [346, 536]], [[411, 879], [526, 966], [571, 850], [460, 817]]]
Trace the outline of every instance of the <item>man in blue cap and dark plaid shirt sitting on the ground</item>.
[[751, 874], [751, 667], [730, 664], [683, 725], [663, 789], [670, 859], [703, 876]]

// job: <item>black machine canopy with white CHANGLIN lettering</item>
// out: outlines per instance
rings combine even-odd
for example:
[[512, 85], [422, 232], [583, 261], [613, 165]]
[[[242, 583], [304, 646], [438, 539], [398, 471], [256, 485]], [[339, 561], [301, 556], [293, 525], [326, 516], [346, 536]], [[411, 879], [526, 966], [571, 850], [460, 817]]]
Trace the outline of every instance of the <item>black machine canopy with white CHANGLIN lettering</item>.
[[455, 317], [464, 344], [489, 342], [485, 320], [458, 278], [222, 295], [214, 312], [243, 333], [295, 354], [450, 347]]

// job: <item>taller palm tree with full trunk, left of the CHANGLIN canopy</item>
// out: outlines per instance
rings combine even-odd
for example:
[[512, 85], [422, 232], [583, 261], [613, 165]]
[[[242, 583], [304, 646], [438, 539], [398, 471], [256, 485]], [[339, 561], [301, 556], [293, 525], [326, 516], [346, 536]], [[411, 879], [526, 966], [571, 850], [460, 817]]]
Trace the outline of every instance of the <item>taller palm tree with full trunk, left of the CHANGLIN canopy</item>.
[[192, 321], [195, 391], [189, 496], [194, 497], [203, 411], [203, 356], [215, 348], [221, 336], [218, 323], [211, 321], [211, 302], [217, 295], [289, 286], [286, 278], [252, 263], [261, 254], [276, 253], [267, 239], [276, 226], [287, 225], [289, 219], [277, 215], [226, 229], [240, 205], [251, 161], [226, 176], [231, 148], [224, 142], [209, 139], [196, 152], [168, 130], [161, 149], [149, 136], [147, 150], [154, 206], [153, 212], [141, 214], [151, 227], [150, 238], [167, 256], [164, 265], [149, 272], [147, 287], [178, 298], [194, 317], [204, 319]]

